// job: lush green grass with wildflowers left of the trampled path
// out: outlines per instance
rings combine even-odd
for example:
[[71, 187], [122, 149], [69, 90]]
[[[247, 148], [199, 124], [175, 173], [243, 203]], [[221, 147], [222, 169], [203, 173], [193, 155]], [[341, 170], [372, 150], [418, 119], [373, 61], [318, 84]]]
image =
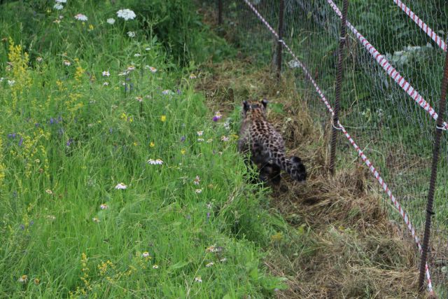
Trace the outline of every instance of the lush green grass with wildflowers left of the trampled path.
[[262, 260], [285, 222], [244, 183], [194, 62], [176, 66], [138, 13], [118, 20], [125, 4], [43, 3], [35, 36], [29, 11], [0, 25], [0, 298], [264, 298], [284, 287]]

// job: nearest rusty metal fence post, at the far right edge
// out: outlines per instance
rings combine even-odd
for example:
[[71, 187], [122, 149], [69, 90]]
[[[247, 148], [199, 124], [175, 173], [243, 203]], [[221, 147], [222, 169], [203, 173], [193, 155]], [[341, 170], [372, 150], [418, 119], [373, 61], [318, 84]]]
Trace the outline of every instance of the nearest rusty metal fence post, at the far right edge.
[[442, 135], [442, 130], [445, 130], [445, 128], [442, 127], [442, 125], [443, 125], [443, 116], [445, 114], [445, 108], [446, 108], [447, 85], [448, 85], [448, 52], [445, 55], [442, 87], [441, 87], [441, 92], [440, 92], [439, 116], [437, 118], [437, 125], [435, 126], [435, 140], [434, 140], [434, 148], [433, 148], [433, 166], [431, 168], [431, 177], [430, 177], [430, 181], [429, 181], [428, 203], [426, 205], [425, 232], [423, 233], [423, 245], [422, 245], [421, 260], [420, 260], [419, 291], [424, 290], [423, 283], [425, 281], [426, 262], [427, 262], [427, 258], [428, 258], [428, 245], [429, 245], [429, 237], [430, 237], [431, 216], [434, 215], [433, 201], [434, 201], [435, 181], [437, 179], [437, 163], [439, 161], [439, 152], [440, 152], [440, 137]]

